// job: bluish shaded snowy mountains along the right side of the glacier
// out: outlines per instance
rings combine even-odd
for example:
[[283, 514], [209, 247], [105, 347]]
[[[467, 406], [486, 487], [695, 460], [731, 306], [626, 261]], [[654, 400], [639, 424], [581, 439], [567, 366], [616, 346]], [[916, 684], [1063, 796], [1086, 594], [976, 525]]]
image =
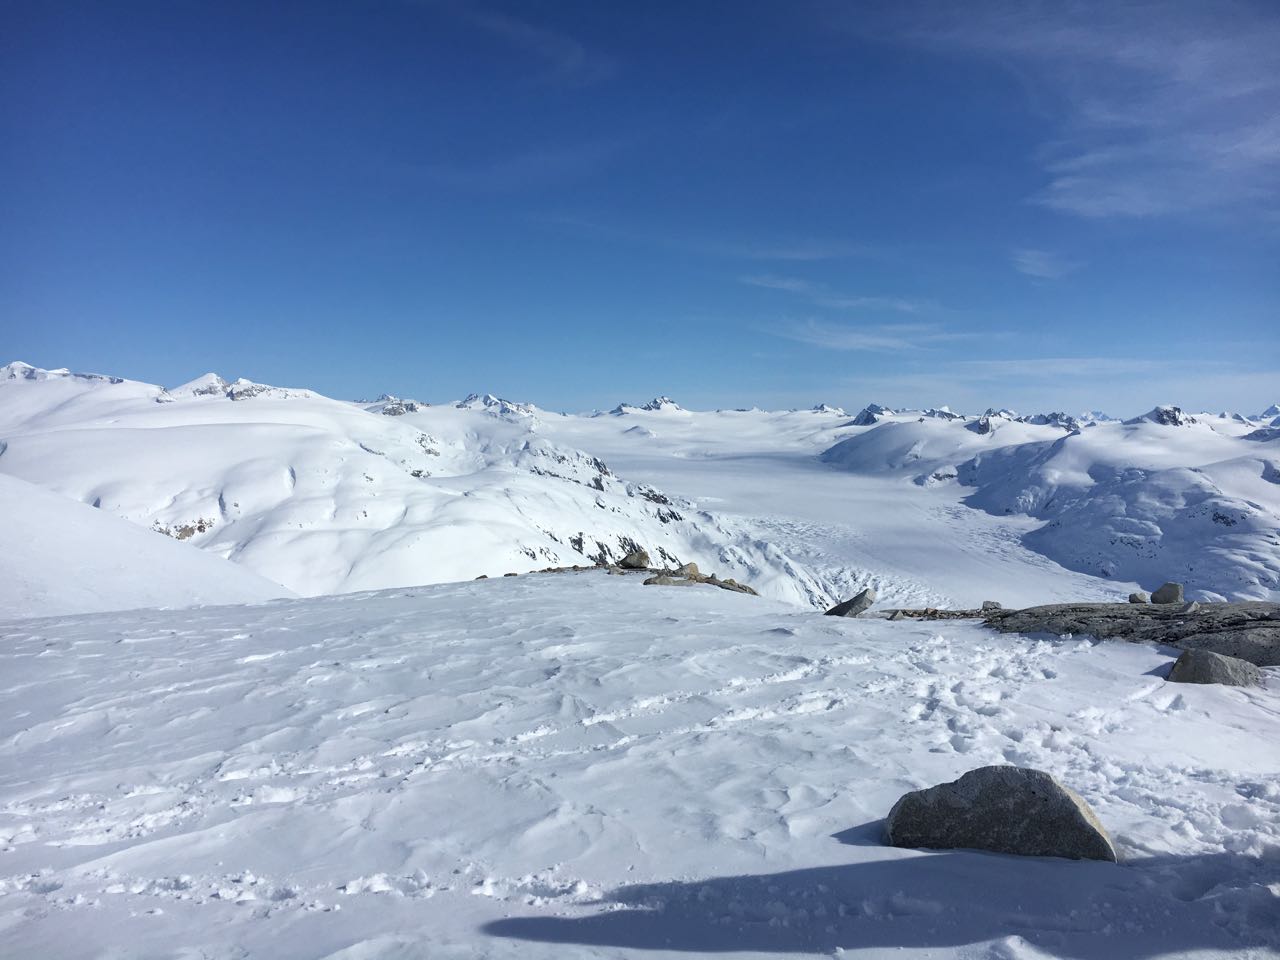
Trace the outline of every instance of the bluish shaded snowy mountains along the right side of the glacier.
[[954, 484], [970, 507], [1046, 521], [1021, 540], [1070, 570], [1187, 581], [1203, 598], [1268, 599], [1280, 595], [1277, 439], [1247, 421], [1169, 406], [1088, 429], [1056, 415], [988, 411], [961, 429], [881, 413], [822, 458], [864, 475]]

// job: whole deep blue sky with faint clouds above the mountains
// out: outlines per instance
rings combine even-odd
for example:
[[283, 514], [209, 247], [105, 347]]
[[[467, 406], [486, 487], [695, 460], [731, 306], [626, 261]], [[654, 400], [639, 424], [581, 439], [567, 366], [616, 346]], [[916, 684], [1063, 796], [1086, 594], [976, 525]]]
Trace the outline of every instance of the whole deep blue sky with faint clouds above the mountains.
[[564, 410], [1261, 410], [1276, 104], [1266, 1], [10, 1], [0, 355]]

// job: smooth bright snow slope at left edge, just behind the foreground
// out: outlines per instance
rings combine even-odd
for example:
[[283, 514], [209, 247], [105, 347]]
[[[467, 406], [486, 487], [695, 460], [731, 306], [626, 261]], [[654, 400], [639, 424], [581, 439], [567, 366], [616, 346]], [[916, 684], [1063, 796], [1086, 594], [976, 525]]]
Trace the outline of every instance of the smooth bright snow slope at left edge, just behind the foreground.
[[0, 620], [293, 594], [234, 563], [0, 474]]

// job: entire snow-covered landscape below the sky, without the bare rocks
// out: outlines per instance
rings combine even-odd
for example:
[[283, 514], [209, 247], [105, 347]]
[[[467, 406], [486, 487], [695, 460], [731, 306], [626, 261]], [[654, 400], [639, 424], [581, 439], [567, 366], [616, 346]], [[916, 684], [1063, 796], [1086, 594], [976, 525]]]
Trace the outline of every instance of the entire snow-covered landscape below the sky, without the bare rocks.
[[[1280, 668], [819, 616], [1280, 599], [1272, 419], [0, 367], [0, 955], [1280, 956]], [[882, 844], [1002, 763], [1120, 863]]]

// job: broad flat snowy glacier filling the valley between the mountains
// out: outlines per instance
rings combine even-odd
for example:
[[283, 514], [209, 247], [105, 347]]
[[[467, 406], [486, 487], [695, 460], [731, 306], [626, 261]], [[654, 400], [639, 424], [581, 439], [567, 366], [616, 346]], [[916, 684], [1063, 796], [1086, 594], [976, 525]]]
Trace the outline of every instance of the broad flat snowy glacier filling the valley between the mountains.
[[[882, 607], [972, 607], [986, 599], [1030, 605], [1124, 599], [1138, 589], [1065, 570], [1023, 543], [1042, 521], [973, 509], [964, 503], [969, 492], [954, 480], [932, 480], [933, 472], [954, 475], [957, 461], [1006, 438], [1057, 438], [1062, 429], [1001, 421], [993, 439], [968, 429], [975, 420], [884, 408], [881, 416], [877, 425], [855, 426], [835, 411], [632, 407], [620, 417], [544, 416], [541, 430], [777, 544], [832, 596], [870, 585]], [[899, 424], [906, 431], [901, 443], [884, 444], [876, 456], [864, 451], [856, 467], [822, 457], [844, 440], [878, 445], [892, 433], [873, 431]], [[923, 458], [909, 456], [918, 444]]]

